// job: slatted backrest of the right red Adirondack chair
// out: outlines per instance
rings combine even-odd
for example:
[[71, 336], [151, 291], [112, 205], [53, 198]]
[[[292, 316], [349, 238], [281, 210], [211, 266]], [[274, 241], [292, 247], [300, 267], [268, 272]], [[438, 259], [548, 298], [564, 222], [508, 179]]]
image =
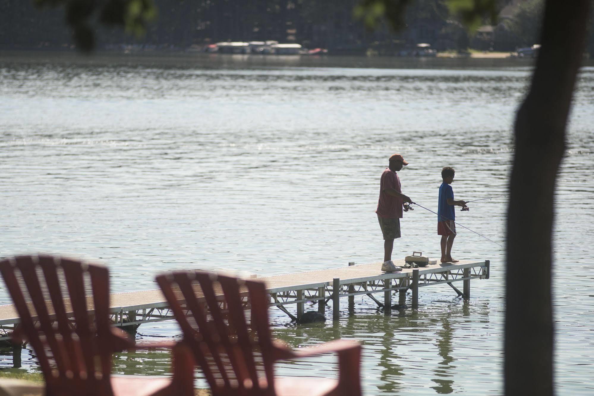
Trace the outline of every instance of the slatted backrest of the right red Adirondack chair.
[[205, 271], [159, 275], [157, 283], [214, 395], [275, 394], [263, 283]]

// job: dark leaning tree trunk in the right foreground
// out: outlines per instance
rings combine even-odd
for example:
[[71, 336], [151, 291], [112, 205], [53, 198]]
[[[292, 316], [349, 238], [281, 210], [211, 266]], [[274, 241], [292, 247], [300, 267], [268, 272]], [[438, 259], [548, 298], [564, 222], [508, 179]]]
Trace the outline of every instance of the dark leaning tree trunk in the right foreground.
[[516, 116], [507, 216], [505, 394], [552, 395], [551, 237], [565, 126], [590, 0], [546, 0], [541, 49]]

